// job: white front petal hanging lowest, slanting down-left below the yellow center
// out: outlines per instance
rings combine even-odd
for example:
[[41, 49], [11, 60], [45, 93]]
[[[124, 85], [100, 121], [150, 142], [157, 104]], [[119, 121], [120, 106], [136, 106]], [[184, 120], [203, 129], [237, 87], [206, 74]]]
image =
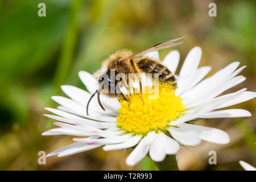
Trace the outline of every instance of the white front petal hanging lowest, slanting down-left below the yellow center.
[[147, 152], [150, 147], [150, 143], [154, 142], [156, 138], [156, 134], [154, 132], [148, 133], [146, 137], [144, 137], [141, 142], [139, 142], [138, 146], [131, 152], [131, 154], [126, 159], [126, 164], [129, 166], [134, 166], [140, 160], [147, 155]]

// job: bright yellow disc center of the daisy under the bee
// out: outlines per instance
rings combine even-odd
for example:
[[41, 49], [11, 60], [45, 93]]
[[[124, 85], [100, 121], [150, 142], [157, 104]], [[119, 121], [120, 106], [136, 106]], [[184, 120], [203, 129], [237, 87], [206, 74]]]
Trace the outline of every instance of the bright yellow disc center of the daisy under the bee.
[[177, 119], [184, 111], [181, 97], [175, 96], [175, 88], [167, 84], [159, 84], [158, 97], [150, 98], [154, 93], [131, 94], [131, 98], [121, 100], [121, 108], [117, 117], [117, 125], [129, 133], [146, 135], [150, 131], [166, 131], [171, 121]]

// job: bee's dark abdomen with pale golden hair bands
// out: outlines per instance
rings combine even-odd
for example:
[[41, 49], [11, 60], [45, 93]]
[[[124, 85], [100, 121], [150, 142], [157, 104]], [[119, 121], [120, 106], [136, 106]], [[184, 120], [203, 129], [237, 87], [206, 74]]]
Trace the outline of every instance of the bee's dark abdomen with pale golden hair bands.
[[177, 86], [177, 80], [174, 74], [158, 61], [144, 58], [137, 62], [137, 66], [146, 73], [158, 73], [160, 81], [170, 82], [173, 86]]

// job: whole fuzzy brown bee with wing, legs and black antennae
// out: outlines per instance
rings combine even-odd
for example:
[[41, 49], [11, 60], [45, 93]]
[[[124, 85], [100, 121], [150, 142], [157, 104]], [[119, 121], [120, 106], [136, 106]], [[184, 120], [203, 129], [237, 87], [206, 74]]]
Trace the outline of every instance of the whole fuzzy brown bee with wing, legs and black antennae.
[[[168, 48], [168, 47], [178, 46], [183, 42], [176, 42], [176, 41], [183, 38], [184, 37], [167, 40], [166, 42], [156, 44], [155, 46], [148, 47], [134, 54], [131, 51], [122, 50], [122, 51], [115, 52], [113, 55], [110, 55], [109, 58], [104, 60], [104, 62], [102, 63], [102, 68], [105, 68], [105, 70], [100, 69], [96, 73], [94, 73], [94, 76], [97, 78], [99, 84], [101, 83], [101, 85], [90, 97], [86, 106], [86, 114], [88, 115], [89, 104], [92, 98], [95, 96], [95, 94], [97, 94], [98, 104], [101, 106], [103, 110], [105, 109], [101, 104], [100, 94], [104, 94], [105, 96], [109, 96], [109, 97], [121, 96], [123, 100], [127, 101], [126, 97], [123, 95], [121, 90], [118, 89], [117, 85], [118, 85], [118, 82], [120, 81], [123, 81], [123, 83], [126, 85], [126, 88], [128, 88], [127, 90], [129, 90], [129, 94], [131, 94], [129, 80], [126, 81], [125, 79], [122, 79], [122, 78], [119, 80], [112, 79], [110, 77], [111, 70], [114, 70], [115, 76], [118, 75], [119, 73], [123, 73], [125, 75], [128, 75], [129, 73], [137, 73], [136, 75], [138, 75], [139, 86], [140, 86], [139, 89], [140, 89], [143, 103], [144, 103], [144, 100], [143, 100], [143, 94], [142, 94], [142, 78], [140, 76], [142, 72], [152, 73], [152, 75], [154, 75], [154, 73], [158, 73], [159, 81], [167, 82], [168, 84], [171, 84], [172, 86], [176, 87], [177, 80], [174, 74], [166, 66], [164, 66], [159, 61], [150, 59], [148, 57], [145, 57], [145, 58], [139, 58], [139, 57], [152, 51], [157, 51], [157, 50]], [[105, 78], [102, 77], [102, 75], [105, 75]], [[114, 93], [110, 92], [110, 90], [112, 90], [113, 87], [115, 90]]]

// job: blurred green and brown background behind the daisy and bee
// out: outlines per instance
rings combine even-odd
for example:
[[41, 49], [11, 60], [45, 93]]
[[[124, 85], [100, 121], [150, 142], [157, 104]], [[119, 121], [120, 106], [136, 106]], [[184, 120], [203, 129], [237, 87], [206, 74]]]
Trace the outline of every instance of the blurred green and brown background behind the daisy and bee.
[[[46, 17], [38, 4], [46, 3]], [[217, 4], [217, 17], [208, 15]], [[255, 1], [168, 0], [1, 0], [0, 1], [0, 169], [2, 170], [126, 170], [156, 169], [149, 159], [128, 167], [129, 151], [102, 148], [65, 158], [47, 158], [38, 164], [38, 151], [72, 143], [72, 137], [43, 137], [53, 120], [43, 117], [44, 107], [56, 107], [52, 95], [64, 95], [60, 85], [85, 89], [77, 73], [93, 73], [102, 60], [118, 49], [139, 51], [168, 39], [187, 35], [175, 47], [181, 63], [194, 46], [203, 49], [200, 66], [213, 67], [209, 75], [232, 61], [247, 65], [247, 80], [236, 88], [256, 90]], [[160, 51], [160, 59], [172, 48]], [[180, 69], [180, 67], [179, 67]], [[255, 108], [251, 100], [232, 108], [249, 110], [250, 118], [200, 121], [226, 131], [231, 142], [203, 142], [181, 148], [183, 170], [242, 170], [238, 160], [256, 166]], [[217, 165], [209, 165], [209, 151], [217, 152]]]

